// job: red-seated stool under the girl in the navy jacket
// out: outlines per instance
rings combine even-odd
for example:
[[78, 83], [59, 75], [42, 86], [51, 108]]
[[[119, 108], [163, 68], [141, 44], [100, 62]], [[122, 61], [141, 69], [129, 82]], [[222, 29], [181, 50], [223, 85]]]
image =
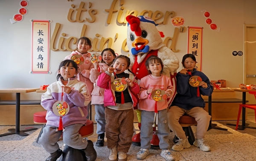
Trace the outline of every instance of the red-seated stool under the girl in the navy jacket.
[[[189, 115], [182, 115], [179, 120], [180, 125], [182, 126], [182, 129], [184, 130], [186, 136], [189, 136], [188, 141], [190, 145], [193, 145], [195, 141], [195, 135], [192, 131], [191, 126], [197, 125], [197, 122], [195, 121], [195, 118]], [[173, 138], [173, 142], [177, 143], [178, 137], [175, 135]]]

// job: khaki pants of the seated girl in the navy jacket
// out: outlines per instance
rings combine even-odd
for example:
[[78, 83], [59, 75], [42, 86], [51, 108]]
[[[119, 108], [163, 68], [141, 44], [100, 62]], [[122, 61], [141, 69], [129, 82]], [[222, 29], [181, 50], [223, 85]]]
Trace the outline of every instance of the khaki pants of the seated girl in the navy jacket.
[[195, 136], [198, 139], [204, 138], [207, 129], [209, 127], [209, 121], [211, 116], [202, 107], [194, 107], [192, 109], [186, 110], [178, 106], [171, 106], [167, 112], [169, 120], [169, 128], [175, 133], [179, 138], [185, 139], [186, 135], [179, 124], [179, 119], [182, 115], [190, 115], [197, 121]]

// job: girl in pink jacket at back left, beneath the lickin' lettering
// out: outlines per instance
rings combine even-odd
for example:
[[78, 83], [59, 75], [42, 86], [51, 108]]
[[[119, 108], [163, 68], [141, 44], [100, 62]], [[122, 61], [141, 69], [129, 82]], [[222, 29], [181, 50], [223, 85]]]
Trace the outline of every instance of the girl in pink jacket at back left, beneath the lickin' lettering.
[[[77, 50], [73, 51], [70, 55], [68, 55], [64, 60], [71, 59], [73, 55], [81, 55], [84, 58], [84, 63], [81, 65], [78, 65], [78, 73], [77, 73], [77, 79], [86, 83], [90, 94], [93, 91], [93, 83], [90, 81], [90, 70], [94, 68], [93, 63], [90, 61], [91, 54], [88, 52], [88, 50], [92, 47], [91, 41], [88, 37], [81, 37], [78, 40], [78, 43], [76, 44]], [[87, 119], [89, 119], [90, 116], [90, 107], [91, 103], [87, 105], [88, 115]]]

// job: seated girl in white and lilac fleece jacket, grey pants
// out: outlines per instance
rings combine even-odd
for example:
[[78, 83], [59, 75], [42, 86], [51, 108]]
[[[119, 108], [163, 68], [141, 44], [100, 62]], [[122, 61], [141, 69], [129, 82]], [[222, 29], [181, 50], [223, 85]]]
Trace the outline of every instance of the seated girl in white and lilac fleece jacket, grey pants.
[[[95, 161], [97, 157], [93, 142], [86, 141], [78, 133], [87, 120], [87, 104], [90, 102], [90, 92], [88, 92], [86, 84], [75, 77], [78, 72], [77, 69], [77, 64], [73, 60], [63, 60], [58, 69], [58, 81], [49, 85], [47, 92], [42, 95], [41, 105], [47, 110], [47, 123], [38, 143], [50, 153], [47, 161], [56, 161], [61, 156], [62, 150], [60, 150], [57, 141], [62, 132], [64, 144], [83, 150], [87, 161]], [[58, 130], [61, 124], [60, 116], [53, 112], [53, 104], [57, 101], [65, 101], [70, 107], [67, 115], [62, 118], [63, 131]]]

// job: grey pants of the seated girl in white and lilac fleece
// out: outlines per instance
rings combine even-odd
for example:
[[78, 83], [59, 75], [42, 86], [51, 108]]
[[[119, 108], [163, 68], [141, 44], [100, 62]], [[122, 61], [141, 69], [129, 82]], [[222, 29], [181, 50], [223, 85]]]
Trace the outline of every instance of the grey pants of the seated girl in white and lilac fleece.
[[[78, 133], [83, 124], [73, 124], [65, 127], [63, 132], [63, 142], [75, 149], [85, 149], [87, 147], [86, 139], [82, 138]], [[44, 148], [45, 151], [53, 153], [58, 150], [58, 139], [61, 137], [62, 131], [55, 131], [56, 127], [47, 125], [43, 129], [43, 133], [38, 140], [38, 143]]]

